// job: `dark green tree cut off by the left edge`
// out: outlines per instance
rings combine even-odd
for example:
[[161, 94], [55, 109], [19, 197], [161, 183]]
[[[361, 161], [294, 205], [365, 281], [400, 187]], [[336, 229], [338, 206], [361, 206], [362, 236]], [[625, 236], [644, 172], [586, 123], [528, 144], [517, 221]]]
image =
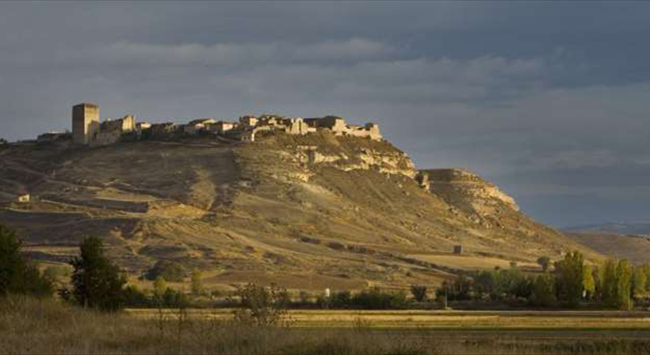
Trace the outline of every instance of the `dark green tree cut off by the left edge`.
[[14, 231], [0, 225], [0, 297], [10, 293], [51, 296], [52, 283], [20, 254], [21, 248]]

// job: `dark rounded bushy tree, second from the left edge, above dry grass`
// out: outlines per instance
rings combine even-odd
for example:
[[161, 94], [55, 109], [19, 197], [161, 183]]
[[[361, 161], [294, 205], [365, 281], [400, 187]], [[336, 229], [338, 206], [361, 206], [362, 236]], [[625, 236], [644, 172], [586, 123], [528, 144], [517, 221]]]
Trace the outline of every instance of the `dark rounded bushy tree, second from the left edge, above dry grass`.
[[104, 255], [104, 245], [97, 237], [84, 239], [81, 256], [70, 265], [72, 274], [72, 301], [102, 311], [118, 311], [124, 305], [126, 277], [117, 265]]

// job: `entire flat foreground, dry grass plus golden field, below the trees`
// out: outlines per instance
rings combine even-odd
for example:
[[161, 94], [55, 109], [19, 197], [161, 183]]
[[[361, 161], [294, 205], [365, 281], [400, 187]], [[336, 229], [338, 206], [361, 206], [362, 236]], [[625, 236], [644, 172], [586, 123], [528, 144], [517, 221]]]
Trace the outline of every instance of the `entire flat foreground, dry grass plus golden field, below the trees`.
[[0, 304], [2, 354], [648, 354], [645, 311], [290, 311], [288, 326], [231, 310], [127, 310], [52, 300]]

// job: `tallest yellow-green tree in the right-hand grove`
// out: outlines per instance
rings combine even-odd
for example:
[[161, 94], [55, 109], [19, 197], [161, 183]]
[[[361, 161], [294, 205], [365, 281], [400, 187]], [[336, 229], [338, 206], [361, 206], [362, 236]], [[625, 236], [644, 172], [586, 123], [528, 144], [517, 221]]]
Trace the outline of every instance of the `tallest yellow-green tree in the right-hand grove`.
[[555, 263], [555, 283], [558, 300], [570, 307], [580, 302], [584, 291], [584, 257], [578, 251], [568, 253]]

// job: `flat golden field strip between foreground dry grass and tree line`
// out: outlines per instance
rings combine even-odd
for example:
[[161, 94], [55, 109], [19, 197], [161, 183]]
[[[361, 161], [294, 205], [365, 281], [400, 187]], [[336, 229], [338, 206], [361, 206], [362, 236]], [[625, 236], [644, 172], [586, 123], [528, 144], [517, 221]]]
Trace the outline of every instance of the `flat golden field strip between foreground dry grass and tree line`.
[[[164, 310], [173, 318], [177, 310]], [[187, 310], [194, 319], [232, 319], [230, 309]], [[155, 309], [130, 309], [126, 313], [138, 319], [159, 315]], [[287, 318], [298, 328], [351, 328], [364, 324], [375, 329], [432, 330], [565, 330], [605, 331], [638, 330], [650, 335], [650, 312], [620, 311], [354, 311], [292, 310]]]

